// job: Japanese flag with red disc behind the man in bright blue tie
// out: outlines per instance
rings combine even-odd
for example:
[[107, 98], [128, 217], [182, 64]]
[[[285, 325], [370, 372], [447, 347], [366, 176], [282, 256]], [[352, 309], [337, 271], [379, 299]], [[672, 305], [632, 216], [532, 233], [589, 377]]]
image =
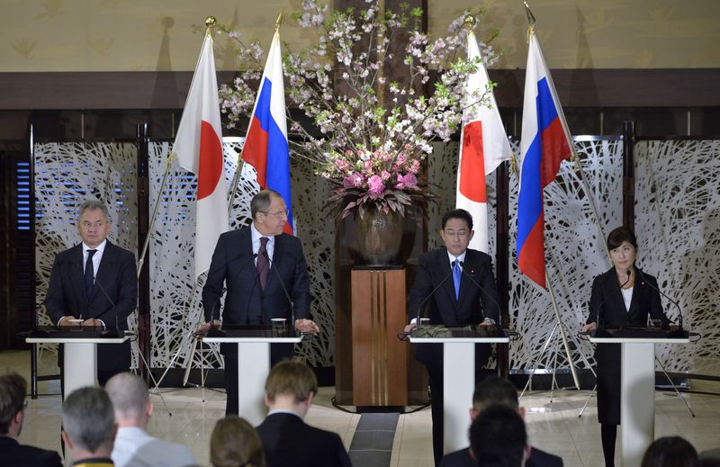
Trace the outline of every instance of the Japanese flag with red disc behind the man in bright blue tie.
[[[478, 41], [473, 30], [467, 34], [467, 58], [481, 58]], [[462, 208], [473, 216], [475, 235], [470, 247], [488, 252], [488, 208], [485, 175], [490, 175], [502, 161], [512, 157], [512, 149], [500, 120], [495, 94], [488, 86], [490, 78], [485, 67], [468, 76], [465, 92], [482, 97], [490, 93], [490, 106], [472, 105], [463, 113], [463, 129], [460, 140], [460, 158], [457, 164], [457, 188], [455, 207]]]

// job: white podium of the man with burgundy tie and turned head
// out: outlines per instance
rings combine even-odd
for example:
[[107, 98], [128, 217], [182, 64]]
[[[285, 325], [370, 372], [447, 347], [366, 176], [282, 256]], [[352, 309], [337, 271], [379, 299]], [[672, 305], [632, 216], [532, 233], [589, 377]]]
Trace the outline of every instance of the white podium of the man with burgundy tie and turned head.
[[238, 412], [253, 427], [266, 417], [265, 382], [270, 373], [270, 344], [297, 344], [302, 336], [268, 329], [223, 329], [224, 337], [203, 342], [238, 345]]

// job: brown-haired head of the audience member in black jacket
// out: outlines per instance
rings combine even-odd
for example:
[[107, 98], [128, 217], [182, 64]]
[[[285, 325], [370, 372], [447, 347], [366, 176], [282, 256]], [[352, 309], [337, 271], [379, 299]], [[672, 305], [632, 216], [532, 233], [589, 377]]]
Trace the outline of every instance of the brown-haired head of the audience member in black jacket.
[[315, 373], [298, 360], [280, 362], [267, 375], [266, 405], [271, 410], [292, 409], [304, 418], [317, 392]]

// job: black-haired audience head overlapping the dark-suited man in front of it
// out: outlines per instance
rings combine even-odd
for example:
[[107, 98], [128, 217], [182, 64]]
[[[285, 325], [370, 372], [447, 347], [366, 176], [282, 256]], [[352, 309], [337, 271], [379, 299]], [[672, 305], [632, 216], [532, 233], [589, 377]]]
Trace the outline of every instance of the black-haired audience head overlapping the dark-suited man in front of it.
[[502, 404], [482, 409], [470, 426], [470, 447], [478, 465], [521, 467], [530, 448], [518, 410]]

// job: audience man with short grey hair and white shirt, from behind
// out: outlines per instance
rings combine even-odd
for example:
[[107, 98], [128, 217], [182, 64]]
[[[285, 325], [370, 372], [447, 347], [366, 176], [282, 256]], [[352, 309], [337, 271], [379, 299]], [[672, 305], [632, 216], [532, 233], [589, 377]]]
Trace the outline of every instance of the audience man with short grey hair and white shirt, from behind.
[[149, 436], [148, 422], [153, 405], [148, 386], [133, 373], [119, 373], [105, 384], [115, 409], [118, 433], [112, 448], [116, 467], [184, 467], [194, 465], [193, 454], [184, 445]]

